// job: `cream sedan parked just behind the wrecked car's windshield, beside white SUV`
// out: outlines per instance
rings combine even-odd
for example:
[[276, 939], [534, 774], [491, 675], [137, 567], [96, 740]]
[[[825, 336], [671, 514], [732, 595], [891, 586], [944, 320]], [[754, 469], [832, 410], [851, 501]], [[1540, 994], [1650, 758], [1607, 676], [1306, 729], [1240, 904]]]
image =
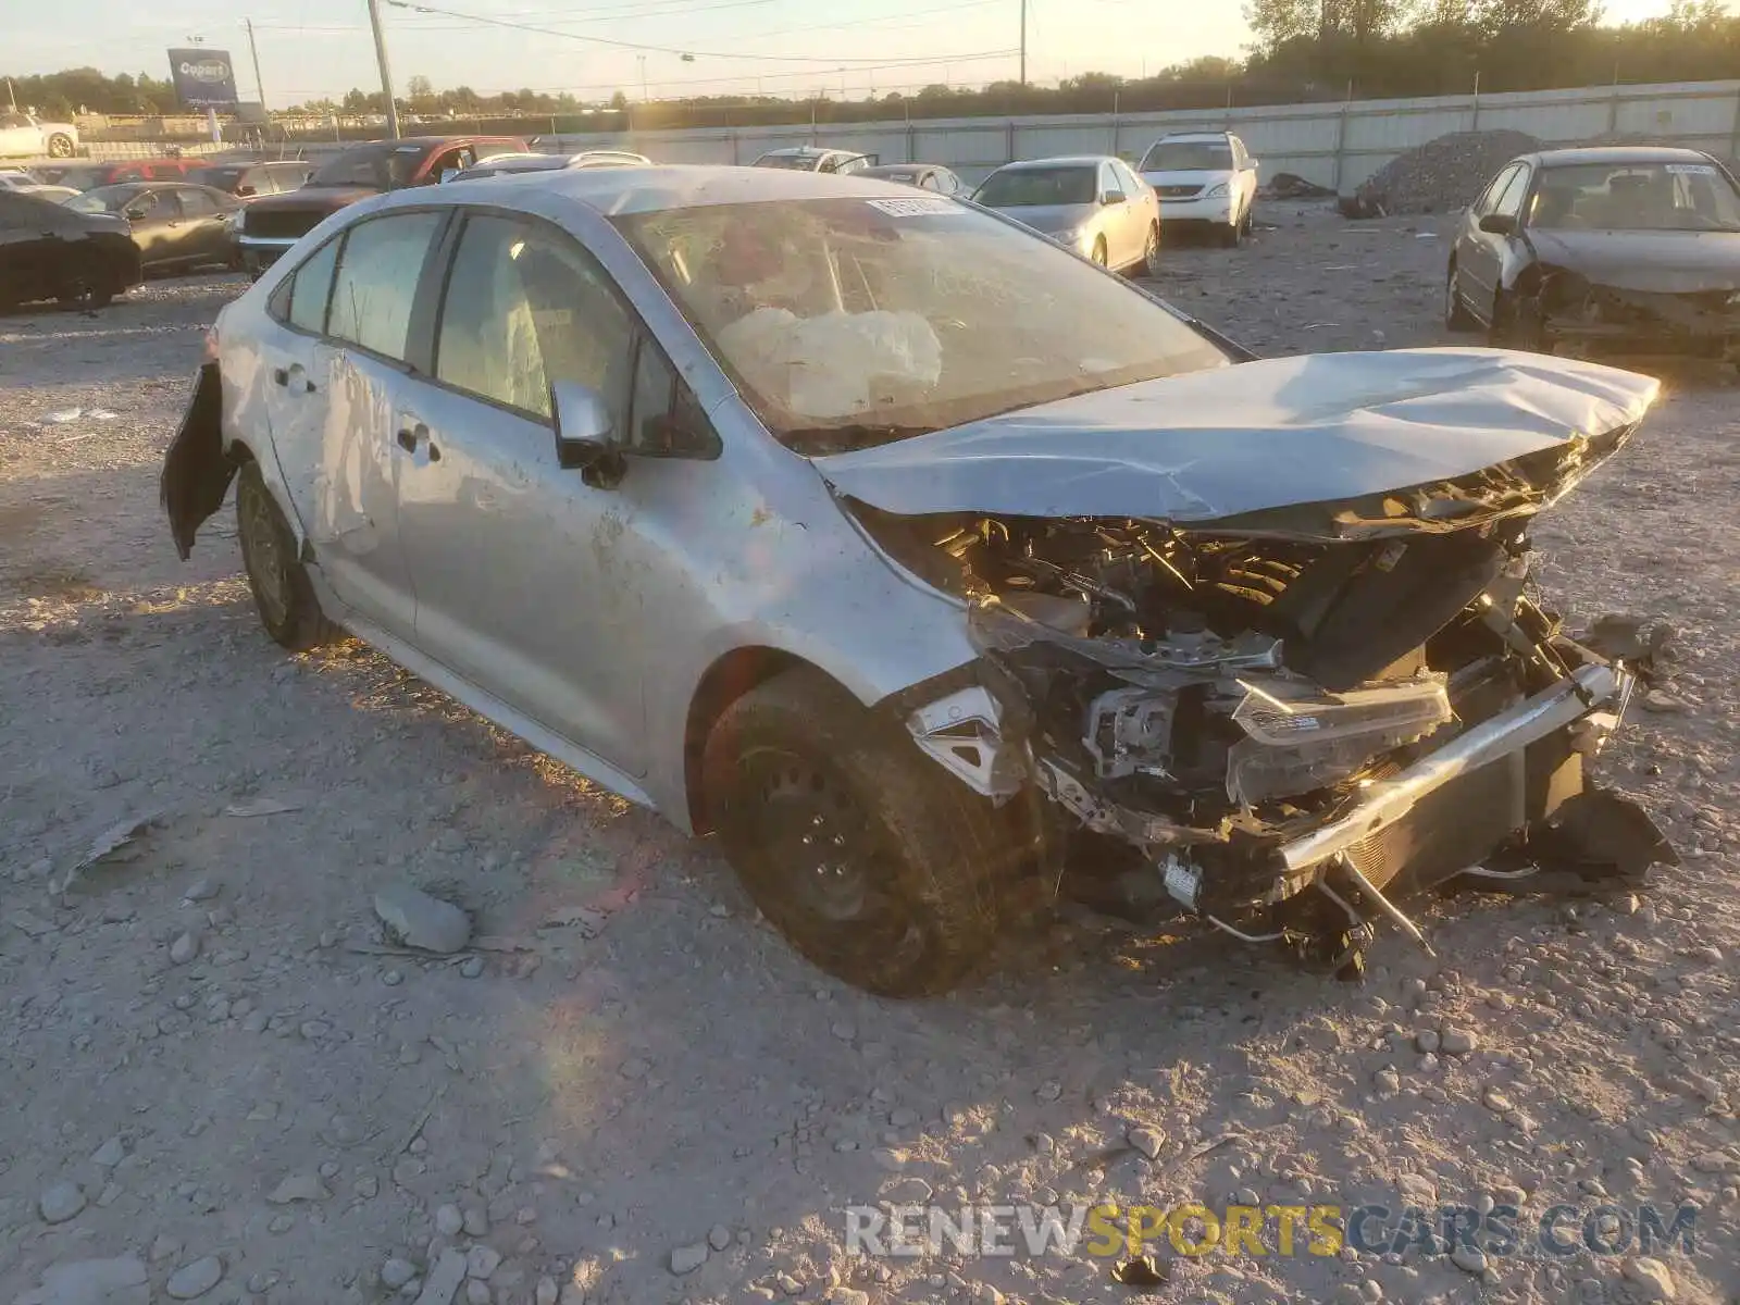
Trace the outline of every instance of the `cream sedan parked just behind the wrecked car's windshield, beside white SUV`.
[[1122, 158], [1082, 155], [1004, 164], [973, 193], [1103, 268], [1154, 271], [1161, 202]]

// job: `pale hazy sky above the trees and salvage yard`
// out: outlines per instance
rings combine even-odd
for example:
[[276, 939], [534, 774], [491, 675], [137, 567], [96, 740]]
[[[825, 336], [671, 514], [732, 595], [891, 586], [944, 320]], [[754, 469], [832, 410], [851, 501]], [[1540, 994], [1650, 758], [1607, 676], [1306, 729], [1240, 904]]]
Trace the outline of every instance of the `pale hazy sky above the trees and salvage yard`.
[[[438, 89], [531, 87], [579, 99], [606, 99], [618, 89], [632, 99], [818, 90], [858, 99], [931, 82], [1014, 78], [1021, 2], [830, 0], [823, 9], [809, 0], [428, 0], [451, 14], [553, 28], [569, 38], [407, 7], [383, 12], [400, 96], [409, 78], [426, 77]], [[379, 89], [365, 0], [12, 5], [0, 71], [90, 64], [167, 77], [165, 49], [200, 38], [231, 52], [238, 90], [252, 99], [242, 30], [251, 17], [271, 108]], [[1667, 7], [1669, 0], [1606, 0], [1606, 16], [1625, 23]], [[1241, 0], [1027, 0], [1027, 77], [1037, 84], [1084, 71], [1141, 77], [1204, 54], [1237, 56], [1248, 40]]]

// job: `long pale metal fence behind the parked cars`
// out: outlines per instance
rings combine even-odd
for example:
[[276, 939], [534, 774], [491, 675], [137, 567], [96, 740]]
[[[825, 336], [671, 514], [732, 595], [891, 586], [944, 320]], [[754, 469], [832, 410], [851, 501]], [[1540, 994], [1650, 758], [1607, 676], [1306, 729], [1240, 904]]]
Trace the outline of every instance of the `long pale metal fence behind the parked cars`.
[[[543, 136], [545, 150], [628, 148], [661, 164], [748, 164], [766, 150], [825, 144], [884, 164], [943, 164], [978, 183], [1002, 164], [1070, 153], [1140, 158], [1176, 130], [1234, 130], [1262, 162], [1262, 176], [1293, 172], [1342, 195], [1389, 160], [1462, 130], [1521, 130], [1545, 144], [1648, 137], [1735, 158], [1740, 155], [1740, 80], [1576, 87], [1505, 94], [1359, 99], [1343, 104], [1268, 104], [1162, 113], [1014, 118], [915, 118], [821, 127], [691, 127], [651, 132]], [[94, 157], [153, 146], [90, 143]], [[339, 146], [310, 146], [324, 157]], [[110, 151], [115, 153], [110, 153]], [[204, 153], [205, 150], [200, 150]], [[268, 146], [268, 153], [271, 148]]]

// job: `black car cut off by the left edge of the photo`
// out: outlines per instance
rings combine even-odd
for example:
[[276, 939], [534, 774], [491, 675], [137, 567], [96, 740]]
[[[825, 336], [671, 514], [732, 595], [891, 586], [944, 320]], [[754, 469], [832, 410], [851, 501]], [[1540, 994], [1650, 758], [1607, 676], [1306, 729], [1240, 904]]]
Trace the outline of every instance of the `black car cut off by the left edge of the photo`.
[[101, 308], [141, 277], [120, 218], [0, 190], [0, 308], [33, 299]]

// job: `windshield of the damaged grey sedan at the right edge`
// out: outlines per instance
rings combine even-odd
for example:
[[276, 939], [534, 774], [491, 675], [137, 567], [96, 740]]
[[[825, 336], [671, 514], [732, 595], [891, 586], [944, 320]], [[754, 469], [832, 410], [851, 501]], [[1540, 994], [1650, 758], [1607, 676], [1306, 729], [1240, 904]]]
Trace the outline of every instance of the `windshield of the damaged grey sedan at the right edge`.
[[1549, 167], [1528, 226], [1549, 231], [1740, 231], [1740, 191], [1714, 164]]

